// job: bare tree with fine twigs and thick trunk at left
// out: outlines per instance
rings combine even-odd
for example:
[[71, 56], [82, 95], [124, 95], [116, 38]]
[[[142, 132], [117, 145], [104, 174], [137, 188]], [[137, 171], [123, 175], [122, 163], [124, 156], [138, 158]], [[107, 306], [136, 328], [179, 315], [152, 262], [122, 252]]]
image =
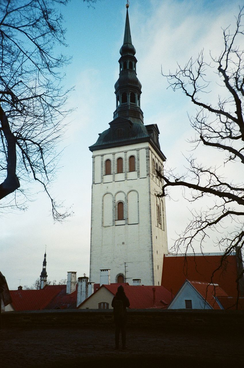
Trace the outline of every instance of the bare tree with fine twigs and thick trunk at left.
[[55, 220], [68, 216], [49, 192], [67, 114], [60, 68], [69, 60], [54, 52], [65, 46], [57, 5], [66, 2], [0, 2], [0, 199], [38, 181]]

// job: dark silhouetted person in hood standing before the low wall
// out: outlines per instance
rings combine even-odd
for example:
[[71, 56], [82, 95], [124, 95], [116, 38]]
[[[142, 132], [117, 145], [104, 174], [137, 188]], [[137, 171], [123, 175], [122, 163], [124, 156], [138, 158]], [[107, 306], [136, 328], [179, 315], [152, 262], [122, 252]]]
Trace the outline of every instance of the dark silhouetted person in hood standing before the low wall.
[[115, 323], [115, 348], [119, 348], [120, 331], [122, 338], [122, 348], [125, 349], [126, 343], [126, 307], [130, 307], [130, 301], [126, 297], [124, 288], [120, 285], [117, 293], [112, 300], [114, 323]]

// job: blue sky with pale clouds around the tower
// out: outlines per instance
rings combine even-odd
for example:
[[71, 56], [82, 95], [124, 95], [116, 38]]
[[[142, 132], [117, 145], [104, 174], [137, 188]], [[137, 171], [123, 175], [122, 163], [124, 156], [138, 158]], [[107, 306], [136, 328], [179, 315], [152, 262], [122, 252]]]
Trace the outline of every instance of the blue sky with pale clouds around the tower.
[[[60, 168], [52, 186], [55, 198], [71, 207], [73, 215], [63, 223], [53, 223], [49, 199], [38, 184], [32, 185], [35, 201], [25, 211], [1, 214], [0, 270], [11, 290], [31, 284], [42, 271], [47, 254], [48, 279], [66, 279], [68, 271], [77, 277], [89, 276], [91, 229], [92, 153], [98, 133], [106, 130], [116, 109], [114, 84], [119, 77], [119, 50], [123, 44], [125, 0], [101, 0], [88, 7], [71, 0], [61, 8], [66, 41], [63, 53], [72, 56], [66, 67], [64, 85], [74, 86], [68, 104], [74, 108], [66, 118], [67, 131]], [[173, 92], [161, 74], [197, 58], [204, 49], [218, 56], [223, 48], [222, 28], [234, 25], [240, 1], [235, 0], [131, 0], [129, 7], [132, 43], [136, 49], [137, 77], [142, 84], [141, 109], [144, 124], [158, 124], [160, 146], [167, 165], [182, 170], [184, 156], [191, 154], [186, 140], [194, 136], [188, 114], [195, 106], [181, 91]], [[218, 85], [213, 76], [212, 95]], [[217, 153], [200, 150], [208, 162]], [[200, 159], [200, 161], [201, 161]], [[184, 171], [183, 171], [184, 172]], [[169, 249], [190, 218], [190, 204], [181, 191], [166, 199]], [[206, 252], [217, 252], [209, 242]]]

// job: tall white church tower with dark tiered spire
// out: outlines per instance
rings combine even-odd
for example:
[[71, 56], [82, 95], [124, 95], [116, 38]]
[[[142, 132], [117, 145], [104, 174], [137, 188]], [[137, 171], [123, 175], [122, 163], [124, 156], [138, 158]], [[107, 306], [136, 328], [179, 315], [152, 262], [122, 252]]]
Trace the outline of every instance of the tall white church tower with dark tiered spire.
[[156, 197], [162, 181], [156, 170], [166, 160], [156, 124], [144, 125], [141, 83], [137, 78], [127, 4], [124, 42], [120, 49], [116, 110], [110, 127], [99, 134], [92, 151], [90, 280], [110, 269], [112, 283], [141, 279], [160, 285], [167, 254], [165, 199]]

